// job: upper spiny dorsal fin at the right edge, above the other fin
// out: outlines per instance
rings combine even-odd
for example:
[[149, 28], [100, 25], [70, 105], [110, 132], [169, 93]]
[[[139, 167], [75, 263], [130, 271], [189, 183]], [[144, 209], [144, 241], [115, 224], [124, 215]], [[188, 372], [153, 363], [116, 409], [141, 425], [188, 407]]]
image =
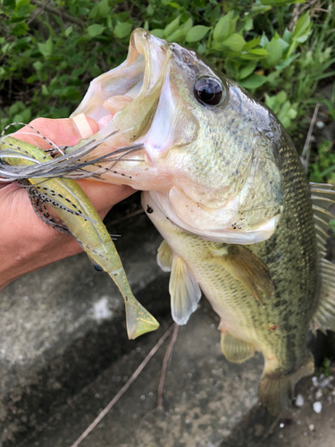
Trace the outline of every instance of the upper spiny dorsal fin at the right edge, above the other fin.
[[335, 219], [331, 214], [331, 207], [335, 208], [335, 187], [328, 183], [311, 183], [310, 186], [317, 245], [323, 258], [332, 231], [330, 221]]

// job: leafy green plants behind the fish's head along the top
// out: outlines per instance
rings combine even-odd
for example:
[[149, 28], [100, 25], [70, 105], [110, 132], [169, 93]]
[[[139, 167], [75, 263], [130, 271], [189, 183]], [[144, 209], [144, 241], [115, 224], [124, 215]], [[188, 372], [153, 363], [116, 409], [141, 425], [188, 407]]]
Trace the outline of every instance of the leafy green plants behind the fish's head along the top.
[[0, 0], [0, 127], [71, 114], [89, 81], [124, 60], [130, 32], [141, 26], [196, 49], [256, 96], [266, 93], [294, 136], [317, 83], [333, 75], [333, 6], [314, 4]]

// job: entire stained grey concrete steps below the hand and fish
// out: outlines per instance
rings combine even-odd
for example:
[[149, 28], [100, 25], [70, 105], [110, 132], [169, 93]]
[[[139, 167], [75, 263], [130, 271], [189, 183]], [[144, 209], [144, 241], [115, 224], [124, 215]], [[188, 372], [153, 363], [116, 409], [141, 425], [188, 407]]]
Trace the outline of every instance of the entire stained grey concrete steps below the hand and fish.
[[[0, 446], [71, 447], [172, 325], [168, 274], [155, 263], [160, 236], [145, 215], [113, 227], [137, 298], [161, 322], [128, 341], [120, 293], [86, 255], [16, 281], [0, 295]], [[334, 380], [306, 378], [301, 408], [276, 419], [260, 409], [260, 355], [230, 364], [220, 350], [218, 319], [202, 300], [180, 328], [167, 368], [163, 411], [157, 388], [163, 344], [137, 381], [80, 447], [332, 447]], [[327, 353], [319, 335], [313, 351]], [[331, 345], [329, 345], [331, 346]], [[335, 364], [332, 364], [335, 375]], [[318, 372], [318, 375], [321, 371]], [[321, 392], [321, 394], [320, 394]], [[322, 403], [314, 412], [313, 403]]]

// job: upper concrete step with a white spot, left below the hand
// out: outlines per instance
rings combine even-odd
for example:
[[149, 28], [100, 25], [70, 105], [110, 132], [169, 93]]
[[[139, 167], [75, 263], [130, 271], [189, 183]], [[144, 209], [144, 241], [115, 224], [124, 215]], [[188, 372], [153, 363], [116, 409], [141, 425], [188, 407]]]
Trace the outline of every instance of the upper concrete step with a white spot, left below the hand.
[[[161, 238], [145, 215], [116, 230], [130, 285], [150, 311], [141, 291], [159, 278], [167, 287], [155, 262]], [[155, 303], [155, 316], [168, 308]], [[0, 310], [0, 442], [14, 442], [134, 346], [120, 292], [85, 254], [21, 277], [0, 292]]]

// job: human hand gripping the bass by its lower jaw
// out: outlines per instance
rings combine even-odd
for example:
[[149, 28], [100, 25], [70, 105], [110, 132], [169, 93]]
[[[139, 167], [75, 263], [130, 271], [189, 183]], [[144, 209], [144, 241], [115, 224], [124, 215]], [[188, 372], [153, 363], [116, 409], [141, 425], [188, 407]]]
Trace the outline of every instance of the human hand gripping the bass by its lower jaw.
[[[98, 131], [96, 122], [87, 118], [86, 133]], [[89, 126], [88, 126], [89, 124]], [[58, 146], [73, 146], [83, 138], [76, 122], [69, 119], [38, 118], [30, 125]], [[13, 135], [39, 148], [50, 148], [38, 135], [24, 127]], [[88, 134], [85, 135], [88, 138]], [[129, 197], [134, 190], [101, 181], [78, 181], [101, 218], [116, 203]], [[55, 231], [35, 214], [26, 190], [15, 183], [0, 183], [0, 290], [22, 274], [33, 272], [63, 257], [82, 251], [72, 236]]]

